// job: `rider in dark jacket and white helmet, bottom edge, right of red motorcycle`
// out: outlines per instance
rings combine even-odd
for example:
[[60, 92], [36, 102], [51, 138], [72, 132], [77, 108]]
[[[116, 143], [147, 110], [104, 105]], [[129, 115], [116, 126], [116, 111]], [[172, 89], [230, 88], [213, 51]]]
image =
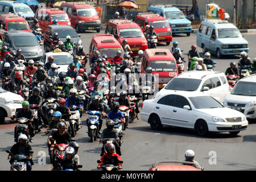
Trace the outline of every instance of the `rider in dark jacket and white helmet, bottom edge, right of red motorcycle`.
[[65, 150], [65, 158], [60, 160], [59, 165], [56, 167], [57, 171], [60, 171], [60, 168], [65, 169], [73, 169], [73, 171], [80, 171], [78, 168], [79, 163], [74, 159], [75, 150], [73, 147], [67, 147]]

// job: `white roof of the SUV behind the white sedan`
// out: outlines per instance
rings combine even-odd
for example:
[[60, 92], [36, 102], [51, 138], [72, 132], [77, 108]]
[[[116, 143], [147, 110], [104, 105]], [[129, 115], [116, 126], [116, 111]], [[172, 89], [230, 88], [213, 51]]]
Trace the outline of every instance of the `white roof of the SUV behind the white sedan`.
[[[212, 71], [188, 71], [188, 72], [183, 72], [180, 75], [177, 76], [177, 78], [193, 78], [193, 79], [203, 79], [206, 76], [220, 76], [220, 75], [216, 75], [218, 73], [222, 73], [222, 72], [212, 72]], [[224, 74], [224, 73], [222, 73]]]

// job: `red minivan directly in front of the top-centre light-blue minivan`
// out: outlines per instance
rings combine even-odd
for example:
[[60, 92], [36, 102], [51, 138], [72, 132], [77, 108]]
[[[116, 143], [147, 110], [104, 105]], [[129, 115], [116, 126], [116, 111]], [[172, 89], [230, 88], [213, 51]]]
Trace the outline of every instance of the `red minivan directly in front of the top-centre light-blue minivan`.
[[154, 26], [154, 31], [158, 35], [158, 43], [166, 42], [167, 45], [170, 45], [172, 42], [172, 30], [167, 19], [158, 14], [152, 13], [139, 13], [135, 20], [143, 32], [145, 32], [145, 26], [152, 25]]

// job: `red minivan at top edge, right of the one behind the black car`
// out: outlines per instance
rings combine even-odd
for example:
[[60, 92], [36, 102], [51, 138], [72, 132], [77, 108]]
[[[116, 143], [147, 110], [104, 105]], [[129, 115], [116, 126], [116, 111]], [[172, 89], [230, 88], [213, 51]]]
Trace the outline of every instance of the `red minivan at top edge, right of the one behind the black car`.
[[86, 5], [85, 2], [62, 3], [61, 10], [68, 14], [71, 26], [77, 33], [85, 30], [101, 30], [101, 20], [94, 7]]

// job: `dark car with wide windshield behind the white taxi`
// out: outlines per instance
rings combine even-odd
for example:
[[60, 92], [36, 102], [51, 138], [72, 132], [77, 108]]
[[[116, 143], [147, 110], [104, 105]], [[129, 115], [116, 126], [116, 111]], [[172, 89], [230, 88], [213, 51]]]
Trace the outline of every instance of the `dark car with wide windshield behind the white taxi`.
[[51, 51], [52, 38], [55, 32], [59, 34], [59, 38], [63, 43], [66, 41], [68, 35], [71, 36], [71, 42], [76, 44], [82, 43], [80, 39], [81, 35], [77, 35], [73, 27], [64, 24], [49, 25], [44, 32], [44, 52]]

